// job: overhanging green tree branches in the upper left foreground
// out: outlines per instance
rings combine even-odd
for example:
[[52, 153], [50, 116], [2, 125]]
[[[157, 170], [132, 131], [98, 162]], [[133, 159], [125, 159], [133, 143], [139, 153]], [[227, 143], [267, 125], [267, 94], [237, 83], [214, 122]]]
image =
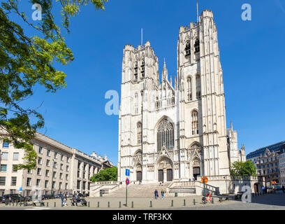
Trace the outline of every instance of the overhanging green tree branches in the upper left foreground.
[[[74, 59], [59, 25], [54, 22], [52, 8], [61, 4], [61, 26], [69, 33], [71, 16], [78, 15], [80, 6], [92, 3], [104, 10], [108, 0], [31, 0], [42, 8], [42, 20], [37, 25], [20, 10], [19, 0], [0, 1], [0, 127], [5, 141], [15, 148], [24, 148], [25, 164], [18, 169], [35, 169], [36, 152], [31, 140], [36, 130], [44, 126], [43, 116], [36, 109], [24, 108], [21, 102], [34, 94], [34, 86], [42, 85], [47, 92], [66, 87], [66, 73], [54, 64], [67, 65]], [[17, 16], [34, 35], [28, 36], [24, 26], [13, 22]], [[41, 37], [40, 37], [41, 36]]]

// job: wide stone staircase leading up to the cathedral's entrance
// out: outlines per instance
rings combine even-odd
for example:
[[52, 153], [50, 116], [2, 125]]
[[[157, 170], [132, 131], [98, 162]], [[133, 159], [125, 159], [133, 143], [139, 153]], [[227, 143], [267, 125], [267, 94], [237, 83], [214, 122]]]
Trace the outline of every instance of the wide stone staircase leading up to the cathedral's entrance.
[[[157, 190], [159, 197], [161, 197], [161, 190], [164, 190], [166, 194], [166, 188], [170, 183], [163, 183], [163, 186], [159, 186], [159, 183], [147, 183], [147, 184], [134, 184], [130, 183], [128, 186], [128, 197], [154, 197], [154, 190]], [[103, 197], [126, 197], [126, 187], [119, 188], [112, 193], [103, 195]]]

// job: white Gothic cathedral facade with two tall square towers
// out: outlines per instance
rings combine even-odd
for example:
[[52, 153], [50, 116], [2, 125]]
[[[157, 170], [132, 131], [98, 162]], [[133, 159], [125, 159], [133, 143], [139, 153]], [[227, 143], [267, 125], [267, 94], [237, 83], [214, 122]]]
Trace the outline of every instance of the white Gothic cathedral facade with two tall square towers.
[[[211, 10], [180, 27], [177, 75], [168, 79], [149, 41], [124, 47], [119, 108], [118, 181], [189, 181], [230, 174], [243, 160], [226, 129], [223, 71]], [[244, 151], [244, 148], [242, 148]]]

